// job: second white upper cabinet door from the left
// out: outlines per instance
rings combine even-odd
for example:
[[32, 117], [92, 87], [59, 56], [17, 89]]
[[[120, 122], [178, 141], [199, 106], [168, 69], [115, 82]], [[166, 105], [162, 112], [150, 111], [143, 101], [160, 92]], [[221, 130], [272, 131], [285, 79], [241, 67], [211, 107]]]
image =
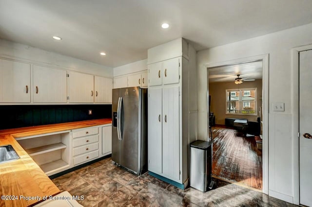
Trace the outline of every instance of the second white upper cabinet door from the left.
[[43, 66], [33, 66], [34, 103], [66, 103], [67, 72]]

